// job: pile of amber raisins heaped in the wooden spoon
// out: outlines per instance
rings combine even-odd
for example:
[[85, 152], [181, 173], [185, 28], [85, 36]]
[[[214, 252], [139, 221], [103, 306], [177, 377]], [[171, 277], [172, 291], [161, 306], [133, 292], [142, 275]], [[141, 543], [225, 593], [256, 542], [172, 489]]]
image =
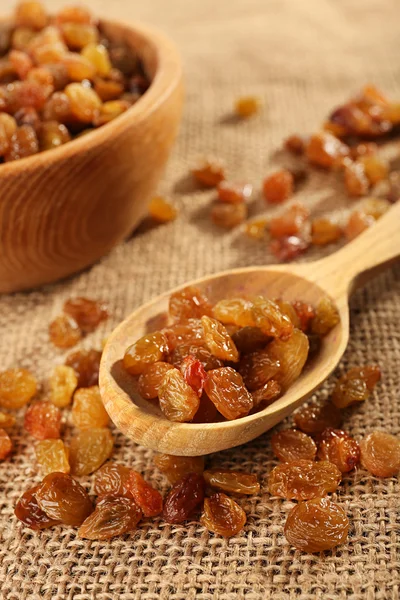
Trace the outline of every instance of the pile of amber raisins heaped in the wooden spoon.
[[164, 329], [127, 348], [123, 364], [139, 394], [181, 423], [262, 410], [300, 376], [309, 336], [319, 339], [339, 322], [329, 298], [315, 308], [262, 296], [212, 306], [194, 287], [171, 296], [168, 317]]

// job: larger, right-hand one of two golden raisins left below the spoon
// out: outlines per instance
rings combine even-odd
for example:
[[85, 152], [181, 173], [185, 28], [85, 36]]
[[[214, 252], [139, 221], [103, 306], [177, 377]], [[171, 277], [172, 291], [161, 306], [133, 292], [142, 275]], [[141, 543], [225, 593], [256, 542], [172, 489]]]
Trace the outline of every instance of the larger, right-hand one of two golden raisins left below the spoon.
[[73, 475], [90, 475], [110, 458], [114, 447], [108, 429], [93, 428], [80, 431], [70, 445], [70, 465]]

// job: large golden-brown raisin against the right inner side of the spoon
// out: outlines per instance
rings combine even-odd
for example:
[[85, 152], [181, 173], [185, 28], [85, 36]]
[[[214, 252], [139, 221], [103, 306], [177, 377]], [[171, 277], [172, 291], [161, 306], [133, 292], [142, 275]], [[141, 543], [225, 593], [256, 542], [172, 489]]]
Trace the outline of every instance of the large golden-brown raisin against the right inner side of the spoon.
[[272, 360], [280, 363], [280, 369], [274, 379], [287, 390], [300, 377], [307, 361], [309, 342], [307, 336], [295, 329], [292, 336], [284, 340], [273, 340], [266, 349]]

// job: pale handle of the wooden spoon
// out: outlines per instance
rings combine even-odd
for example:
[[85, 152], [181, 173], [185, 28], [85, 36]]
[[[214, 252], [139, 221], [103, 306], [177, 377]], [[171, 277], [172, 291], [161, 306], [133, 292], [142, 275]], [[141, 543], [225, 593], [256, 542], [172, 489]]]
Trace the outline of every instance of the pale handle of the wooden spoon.
[[328, 291], [352, 293], [400, 257], [400, 200], [377, 223], [333, 254], [299, 265]]

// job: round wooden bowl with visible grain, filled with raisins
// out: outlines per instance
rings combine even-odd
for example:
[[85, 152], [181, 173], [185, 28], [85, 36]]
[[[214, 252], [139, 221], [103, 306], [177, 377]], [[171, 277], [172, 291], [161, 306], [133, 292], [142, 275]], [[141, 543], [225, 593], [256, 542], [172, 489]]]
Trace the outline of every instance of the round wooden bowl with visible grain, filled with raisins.
[[152, 83], [115, 121], [0, 165], [0, 292], [55, 281], [99, 259], [143, 218], [164, 171], [181, 117], [179, 54], [142, 25], [102, 25], [139, 53]]

